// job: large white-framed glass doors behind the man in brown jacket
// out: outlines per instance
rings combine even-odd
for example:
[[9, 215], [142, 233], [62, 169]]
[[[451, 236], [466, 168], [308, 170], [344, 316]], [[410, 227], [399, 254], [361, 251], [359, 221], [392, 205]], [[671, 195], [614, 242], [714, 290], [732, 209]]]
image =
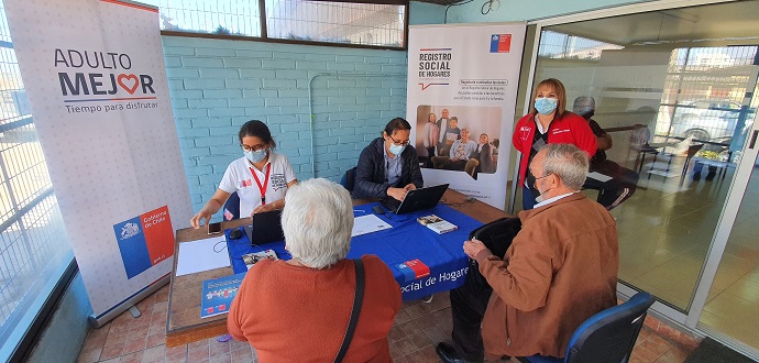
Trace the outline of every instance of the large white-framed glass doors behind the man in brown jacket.
[[610, 210], [620, 292], [757, 358], [759, 26], [732, 24], [758, 24], [759, 1], [656, 7], [540, 22], [530, 82], [560, 79], [569, 110], [593, 97], [607, 160], [635, 175]]

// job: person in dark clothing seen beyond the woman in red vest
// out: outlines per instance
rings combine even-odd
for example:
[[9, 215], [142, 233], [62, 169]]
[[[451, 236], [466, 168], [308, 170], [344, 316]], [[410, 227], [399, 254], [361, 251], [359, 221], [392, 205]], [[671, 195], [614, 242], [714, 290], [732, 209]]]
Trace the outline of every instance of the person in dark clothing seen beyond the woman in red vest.
[[605, 183], [588, 177], [585, 179], [584, 187], [597, 189], [598, 204], [607, 210], [612, 210], [632, 196], [638, 185], [638, 174], [606, 158], [606, 151], [612, 148], [614, 143], [612, 142], [612, 136], [593, 120], [593, 114], [595, 113], [595, 99], [593, 97], [578, 97], [572, 106], [572, 111], [587, 120], [593, 134], [596, 136], [597, 150], [591, 158], [591, 172], [612, 177], [610, 180]]

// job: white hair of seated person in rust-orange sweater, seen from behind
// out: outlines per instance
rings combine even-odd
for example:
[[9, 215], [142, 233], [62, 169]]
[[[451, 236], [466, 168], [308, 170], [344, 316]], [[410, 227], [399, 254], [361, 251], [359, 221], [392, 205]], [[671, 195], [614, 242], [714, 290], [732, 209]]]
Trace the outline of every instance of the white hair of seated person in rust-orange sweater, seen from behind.
[[282, 212], [287, 250], [301, 264], [327, 268], [351, 248], [353, 204], [342, 186], [318, 178], [289, 188]]

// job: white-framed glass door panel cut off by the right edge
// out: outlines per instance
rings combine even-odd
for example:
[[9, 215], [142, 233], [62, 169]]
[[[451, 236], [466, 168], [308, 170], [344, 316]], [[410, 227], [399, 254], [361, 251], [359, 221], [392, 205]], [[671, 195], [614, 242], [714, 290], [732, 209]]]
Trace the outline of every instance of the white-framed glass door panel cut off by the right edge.
[[[759, 56], [752, 69], [755, 88], [746, 98], [752, 97], [748, 110], [756, 120], [756, 114], [750, 113], [756, 113], [754, 110], [759, 106], [756, 86]], [[748, 146], [736, 152], [735, 182], [689, 320], [697, 318], [698, 327], [751, 354], [759, 351], [755, 329], [759, 323], [759, 125], [756, 122], [747, 136]]]

